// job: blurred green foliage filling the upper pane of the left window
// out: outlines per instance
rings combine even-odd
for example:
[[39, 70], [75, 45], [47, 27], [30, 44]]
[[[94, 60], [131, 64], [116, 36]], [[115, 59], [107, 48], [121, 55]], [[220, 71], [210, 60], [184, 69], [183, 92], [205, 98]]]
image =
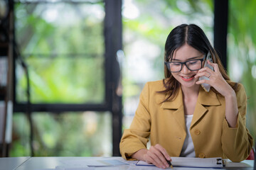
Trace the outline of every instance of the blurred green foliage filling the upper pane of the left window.
[[[63, 12], [56, 6], [58, 17], [73, 12], [73, 7], [73, 10], [63, 7], [67, 10]], [[89, 15], [78, 16], [75, 21], [56, 18], [55, 23], [50, 23], [43, 18], [47, 11], [48, 6], [43, 5], [16, 6], [16, 40], [28, 64], [32, 103], [102, 103], [105, 97], [102, 20], [92, 20]], [[17, 99], [26, 101], [26, 77], [21, 69], [18, 71]]]

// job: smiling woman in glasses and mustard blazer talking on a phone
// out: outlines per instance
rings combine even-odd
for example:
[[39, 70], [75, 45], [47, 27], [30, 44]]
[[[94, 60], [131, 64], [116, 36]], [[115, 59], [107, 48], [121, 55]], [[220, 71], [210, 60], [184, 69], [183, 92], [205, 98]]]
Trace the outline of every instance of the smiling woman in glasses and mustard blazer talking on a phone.
[[[208, 52], [213, 63], [206, 61]], [[203, 30], [193, 24], [174, 28], [164, 60], [166, 79], [144, 86], [132, 125], [120, 142], [122, 157], [163, 169], [170, 157], [246, 159], [253, 141], [245, 128], [245, 89], [230, 81]], [[203, 76], [208, 79], [199, 80]], [[201, 84], [210, 84], [210, 91]], [[151, 147], [146, 149], [149, 137]]]

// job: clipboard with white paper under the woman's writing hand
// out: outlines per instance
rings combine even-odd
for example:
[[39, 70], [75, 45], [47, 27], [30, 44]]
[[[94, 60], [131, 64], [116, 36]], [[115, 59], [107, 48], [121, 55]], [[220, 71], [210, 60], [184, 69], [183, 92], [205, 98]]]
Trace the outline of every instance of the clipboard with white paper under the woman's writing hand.
[[[198, 158], [198, 157], [171, 157], [171, 164], [175, 167], [195, 167], [195, 168], [222, 168], [225, 162], [221, 157]], [[137, 166], [154, 166], [144, 161], [139, 161]]]

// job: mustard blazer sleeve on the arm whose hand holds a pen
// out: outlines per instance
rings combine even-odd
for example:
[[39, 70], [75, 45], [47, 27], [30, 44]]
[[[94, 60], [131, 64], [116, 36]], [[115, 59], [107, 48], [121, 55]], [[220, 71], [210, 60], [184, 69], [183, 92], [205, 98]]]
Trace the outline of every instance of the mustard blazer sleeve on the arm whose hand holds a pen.
[[139, 149], [146, 148], [149, 142], [151, 118], [149, 113], [149, 83], [146, 83], [139, 97], [139, 106], [129, 129], [124, 130], [119, 149], [124, 159], [132, 159], [131, 155]]

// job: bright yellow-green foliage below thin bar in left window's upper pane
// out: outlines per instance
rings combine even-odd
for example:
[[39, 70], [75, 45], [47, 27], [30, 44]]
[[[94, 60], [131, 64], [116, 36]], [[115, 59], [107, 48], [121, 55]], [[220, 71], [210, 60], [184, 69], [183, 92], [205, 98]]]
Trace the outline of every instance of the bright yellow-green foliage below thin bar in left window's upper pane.
[[[100, 103], [105, 94], [102, 60], [82, 57], [41, 58], [31, 56], [29, 66], [33, 103]], [[99, 69], [98, 69], [99, 68]], [[92, 72], [93, 71], [93, 72]], [[92, 77], [97, 76], [97, 79]], [[90, 79], [91, 78], [91, 79]], [[26, 79], [19, 81], [20, 91]], [[96, 95], [95, 95], [96, 94]], [[26, 96], [17, 94], [18, 101]]]

